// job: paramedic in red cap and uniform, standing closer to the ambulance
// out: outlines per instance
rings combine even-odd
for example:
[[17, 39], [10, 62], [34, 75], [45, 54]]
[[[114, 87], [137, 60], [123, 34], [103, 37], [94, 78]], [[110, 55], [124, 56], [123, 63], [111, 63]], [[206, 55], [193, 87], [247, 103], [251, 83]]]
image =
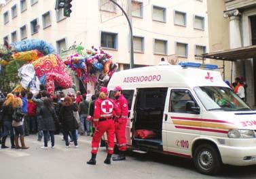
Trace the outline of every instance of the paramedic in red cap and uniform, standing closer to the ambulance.
[[124, 95], [122, 95], [122, 88], [115, 86], [114, 88], [115, 103], [121, 110], [121, 115], [115, 116], [115, 138], [119, 154], [113, 157], [113, 161], [126, 159], [126, 122], [128, 116], [128, 103]]

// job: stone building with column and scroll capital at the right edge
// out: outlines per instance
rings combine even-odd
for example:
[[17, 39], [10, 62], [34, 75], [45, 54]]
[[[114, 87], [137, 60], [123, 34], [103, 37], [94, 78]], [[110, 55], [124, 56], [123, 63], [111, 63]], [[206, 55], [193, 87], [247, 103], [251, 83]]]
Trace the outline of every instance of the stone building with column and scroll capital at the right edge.
[[[224, 18], [229, 20], [230, 49], [256, 45], [256, 1], [225, 0]], [[246, 102], [255, 106], [256, 59], [241, 59], [234, 63], [234, 78], [244, 76], [248, 85]]]

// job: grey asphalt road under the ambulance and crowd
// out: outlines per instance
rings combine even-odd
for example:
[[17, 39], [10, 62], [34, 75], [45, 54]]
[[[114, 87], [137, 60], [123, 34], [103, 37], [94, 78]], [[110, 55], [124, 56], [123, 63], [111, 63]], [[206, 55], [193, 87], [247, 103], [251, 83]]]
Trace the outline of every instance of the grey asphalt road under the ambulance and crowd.
[[[150, 178], [256, 178], [256, 165], [249, 167], [225, 166], [218, 176], [204, 176], [196, 172], [189, 159], [156, 153], [128, 153], [126, 161], [103, 163], [105, 148], [100, 148], [96, 165], [90, 159], [90, 136], [79, 136], [79, 148], [65, 148], [62, 136], [56, 135], [55, 149], [43, 150], [43, 142], [35, 135], [26, 137], [29, 150], [0, 149], [1, 179], [150, 179]], [[7, 138], [10, 146], [10, 138]], [[50, 144], [48, 144], [50, 145]]]

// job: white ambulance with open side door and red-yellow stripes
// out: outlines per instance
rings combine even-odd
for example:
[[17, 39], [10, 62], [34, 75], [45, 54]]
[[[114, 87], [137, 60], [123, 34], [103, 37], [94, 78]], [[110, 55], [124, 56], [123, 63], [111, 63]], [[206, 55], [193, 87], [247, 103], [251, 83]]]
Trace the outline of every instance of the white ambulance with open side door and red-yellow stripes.
[[[189, 157], [202, 174], [216, 174], [223, 163], [256, 164], [256, 111], [234, 94], [219, 72], [189, 67], [197, 64], [113, 74], [109, 96], [121, 86], [128, 99], [128, 146]], [[136, 130], [156, 135], [139, 138]]]

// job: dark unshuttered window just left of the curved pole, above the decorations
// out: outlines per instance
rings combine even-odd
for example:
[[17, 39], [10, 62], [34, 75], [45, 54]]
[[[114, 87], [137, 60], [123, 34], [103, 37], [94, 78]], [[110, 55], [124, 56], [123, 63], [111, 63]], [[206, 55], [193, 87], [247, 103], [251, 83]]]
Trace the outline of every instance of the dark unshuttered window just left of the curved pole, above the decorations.
[[117, 49], [117, 34], [101, 32], [100, 45], [109, 49]]

